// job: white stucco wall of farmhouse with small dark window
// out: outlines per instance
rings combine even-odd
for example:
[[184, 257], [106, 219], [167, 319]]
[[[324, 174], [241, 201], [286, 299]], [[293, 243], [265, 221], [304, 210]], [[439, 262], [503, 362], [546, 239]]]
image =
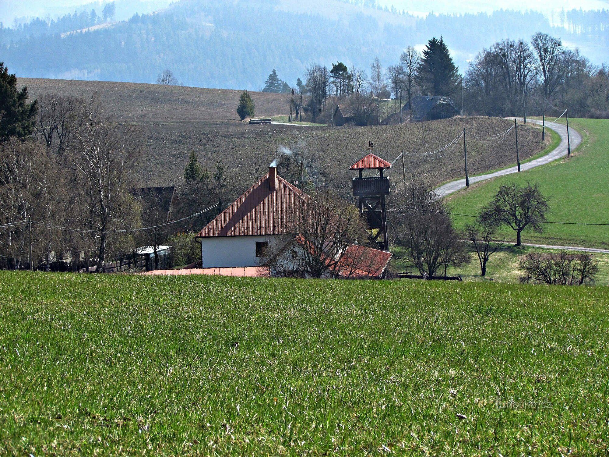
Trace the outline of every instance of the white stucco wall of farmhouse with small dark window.
[[200, 238], [203, 268], [259, 266], [264, 258], [256, 257], [256, 241], [268, 241], [274, 250], [279, 236], [211, 236]]

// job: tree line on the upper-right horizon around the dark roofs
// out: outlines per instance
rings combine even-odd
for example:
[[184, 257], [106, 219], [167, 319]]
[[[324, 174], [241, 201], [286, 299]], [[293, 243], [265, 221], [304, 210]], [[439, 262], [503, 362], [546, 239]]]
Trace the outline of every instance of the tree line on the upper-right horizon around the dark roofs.
[[[281, 81], [275, 69], [266, 88], [272, 80]], [[546, 110], [560, 115], [558, 107], [568, 107], [571, 116], [609, 117], [609, 68], [592, 65], [579, 49], [567, 49], [560, 38], [542, 32], [530, 43], [502, 40], [483, 49], [465, 77], [443, 37], [433, 37], [422, 52], [407, 46], [386, 68], [376, 57], [370, 73], [343, 62], [330, 68], [312, 64], [305, 83], [298, 78], [294, 91], [304, 94], [306, 103], [297, 100], [292, 108], [302, 108], [309, 120], [331, 123], [336, 104], [344, 104], [360, 126], [406, 122], [412, 116], [412, 98], [428, 94], [451, 97], [466, 115], [526, 116]], [[392, 102], [382, 102], [387, 99]], [[403, 107], [410, 107], [406, 118]]]

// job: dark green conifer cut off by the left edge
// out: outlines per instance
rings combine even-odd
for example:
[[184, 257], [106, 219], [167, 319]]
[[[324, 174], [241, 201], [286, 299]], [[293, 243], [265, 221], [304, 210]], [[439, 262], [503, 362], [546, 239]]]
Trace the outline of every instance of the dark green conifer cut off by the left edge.
[[27, 103], [27, 87], [17, 91], [17, 78], [0, 62], [0, 143], [16, 136], [25, 140], [32, 135], [38, 103]]

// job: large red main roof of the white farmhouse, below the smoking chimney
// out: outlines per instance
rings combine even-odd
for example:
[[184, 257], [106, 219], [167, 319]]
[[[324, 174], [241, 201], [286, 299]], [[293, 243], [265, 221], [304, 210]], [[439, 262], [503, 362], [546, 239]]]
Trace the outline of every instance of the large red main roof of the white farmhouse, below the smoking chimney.
[[197, 238], [208, 236], [284, 235], [290, 207], [306, 198], [300, 189], [277, 175], [276, 190], [270, 190], [269, 174], [234, 200]]

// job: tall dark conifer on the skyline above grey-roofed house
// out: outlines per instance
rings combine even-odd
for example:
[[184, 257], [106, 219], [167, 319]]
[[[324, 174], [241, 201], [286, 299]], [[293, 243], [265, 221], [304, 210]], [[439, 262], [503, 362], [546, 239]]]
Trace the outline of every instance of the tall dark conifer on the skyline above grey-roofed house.
[[449, 95], [459, 83], [458, 68], [452, 62], [448, 47], [442, 37], [432, 38], [423, 50], [417, 66], [417, 84], [424, 94]]

